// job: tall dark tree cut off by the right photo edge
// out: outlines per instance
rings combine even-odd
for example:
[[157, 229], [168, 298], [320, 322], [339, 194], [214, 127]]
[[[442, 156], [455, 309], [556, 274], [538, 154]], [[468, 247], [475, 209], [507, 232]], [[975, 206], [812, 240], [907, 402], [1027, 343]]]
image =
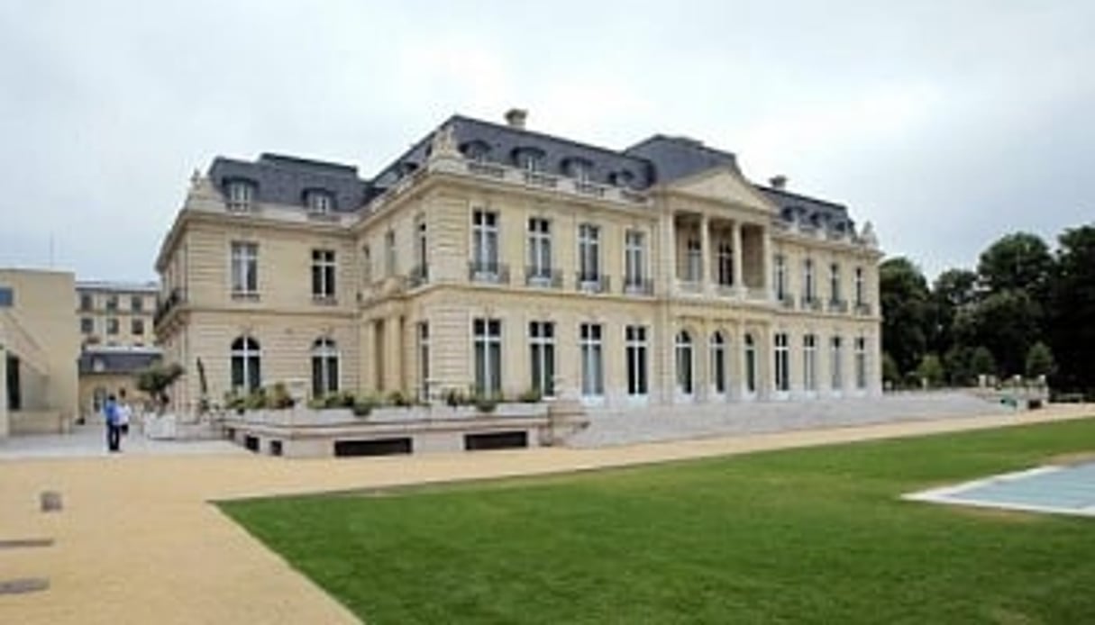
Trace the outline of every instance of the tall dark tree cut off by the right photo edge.
[[1058, 238], [1050, 283], [1049, 339], [1056, 356], [1054, 385], [1095, 390], [1095, 223]]

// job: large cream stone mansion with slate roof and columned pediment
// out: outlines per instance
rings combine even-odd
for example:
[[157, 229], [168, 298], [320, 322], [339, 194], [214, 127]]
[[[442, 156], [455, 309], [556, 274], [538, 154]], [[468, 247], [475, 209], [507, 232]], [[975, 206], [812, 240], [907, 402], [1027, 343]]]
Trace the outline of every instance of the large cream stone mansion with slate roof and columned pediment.
[[589, 406], [880, 393], [880, 252], [733, 153], [622, 151], [453, 116], [371, 178], [217, 158], [155, 268], [178, 410], [286, 382]]

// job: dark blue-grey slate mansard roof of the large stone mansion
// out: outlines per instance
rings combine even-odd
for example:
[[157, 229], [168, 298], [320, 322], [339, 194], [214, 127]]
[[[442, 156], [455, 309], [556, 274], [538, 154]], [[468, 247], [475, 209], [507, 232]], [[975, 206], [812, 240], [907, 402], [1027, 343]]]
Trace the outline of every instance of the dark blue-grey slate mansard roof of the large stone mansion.
[[[731, 152], [687, 137], [655, 135], [618, 151], [461, 115], [453, 115], [440, 127], [446, 126], [452, 128], [457, 146], [465, 155], [518, 166], [522, 154], [533, 154], [541, 163], [538, 171], [557, 176], [570, 176], [574, 166], [581, 164], [590, 182], [634, 190], [668, 184], [714, 167], [730, 167], [741, 173]], [[334, 195], [334, 210], [350, 212], [419, 170], [429, 158], [435, 132], [419, 139], [372, 180], [359, 177], [353, 165], [269, 153], [262, 154], [255, 162], [218, 157], [209, 169], [209, 177], [221, 193], [226, 193], [226, 185], [232, 180], [252, 181], [256, 185], [257, 201], [283, 205], [304, 206], [306, 192], [325, 189]], [[780, 218], [787, 223], [854, 231], [854, 222], [842, 205], [760, 185], [757, 188], [780, 208]]]

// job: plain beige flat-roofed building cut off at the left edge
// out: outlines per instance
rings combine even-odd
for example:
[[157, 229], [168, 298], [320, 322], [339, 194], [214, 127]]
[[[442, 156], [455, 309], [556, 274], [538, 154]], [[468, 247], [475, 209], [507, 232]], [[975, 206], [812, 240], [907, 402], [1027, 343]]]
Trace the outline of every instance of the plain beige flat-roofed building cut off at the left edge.
[[67, 431], [78, 414], [74, 277], [0, 269], [0, 438]]

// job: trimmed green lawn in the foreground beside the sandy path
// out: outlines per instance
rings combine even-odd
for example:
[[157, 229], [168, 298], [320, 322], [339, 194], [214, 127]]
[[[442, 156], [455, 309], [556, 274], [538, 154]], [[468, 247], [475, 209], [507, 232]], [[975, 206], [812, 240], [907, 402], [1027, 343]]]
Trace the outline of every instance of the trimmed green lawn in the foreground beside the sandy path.
[[1084, 451], [1095, 421], [222, 509], [369, 623], [1072, 625], [1095, 520], [898, 496]]

